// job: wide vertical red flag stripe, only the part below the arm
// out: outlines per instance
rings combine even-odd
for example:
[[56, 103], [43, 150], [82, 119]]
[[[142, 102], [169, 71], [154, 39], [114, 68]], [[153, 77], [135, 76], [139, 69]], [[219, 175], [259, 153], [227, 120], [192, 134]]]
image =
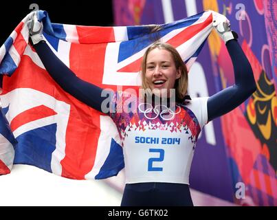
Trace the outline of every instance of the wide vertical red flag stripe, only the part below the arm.
[[65, 158], [60, 161], [63, 166], [61, 175], [70, 179], [85, 179], [96, 159], [100, 113], [89, 107], [85, 112], [89, 113], [89, 117], [76, 113], [76, 109], [70, 110], [67, 131], [73, 132], [66, 136]]

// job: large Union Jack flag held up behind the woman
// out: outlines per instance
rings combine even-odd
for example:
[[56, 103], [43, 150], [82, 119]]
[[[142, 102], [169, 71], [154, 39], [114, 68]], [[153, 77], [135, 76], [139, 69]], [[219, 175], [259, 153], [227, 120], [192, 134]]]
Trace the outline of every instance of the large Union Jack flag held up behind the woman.
[[[30, 14], [0, 48], [1, 104], [18, 142], [10, 160], [71, 179], [117, 175], [124, 158], [115, 124], [52, 80], [28, 41], [28, 19]], [[45, 11], [38, 12], [38, 19], [47, 43], [67, 67], [83, 80], [114, 91], [117, 85], [140, 86], [142, 56], [157, 40], [176, 47], [190, 69], [212, 30], [212, 11], [159, 26], [56, 24]], [[0, 145], [1, 151], [8, 149]]]

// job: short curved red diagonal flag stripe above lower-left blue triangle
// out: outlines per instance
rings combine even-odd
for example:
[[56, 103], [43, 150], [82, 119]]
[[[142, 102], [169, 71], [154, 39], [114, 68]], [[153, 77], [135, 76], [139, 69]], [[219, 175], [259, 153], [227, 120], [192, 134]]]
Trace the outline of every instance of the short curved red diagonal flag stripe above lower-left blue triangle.
[[49, 109], [45, 105], [40, 105], [17, 115], [16, 118], [14, 118], [10, 123], [10, 128], [12, 129], [12, 131], [15, 131], [17, 128], [19, 128], [19, 126], [23, 124], [41, 118], [46, 118], [52, 115], [56, 115], [56, 112], [53, 109]]

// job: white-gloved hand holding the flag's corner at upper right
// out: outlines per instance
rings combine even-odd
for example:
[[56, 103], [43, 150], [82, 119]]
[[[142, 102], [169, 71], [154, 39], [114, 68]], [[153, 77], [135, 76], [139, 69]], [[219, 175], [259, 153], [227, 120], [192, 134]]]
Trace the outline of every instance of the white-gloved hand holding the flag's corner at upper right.
[[238, 38], [236, 32], [231, 31], [230, 21], [223, 14], [212, 12], [212, 18], [212, 25], [225, 43]]

